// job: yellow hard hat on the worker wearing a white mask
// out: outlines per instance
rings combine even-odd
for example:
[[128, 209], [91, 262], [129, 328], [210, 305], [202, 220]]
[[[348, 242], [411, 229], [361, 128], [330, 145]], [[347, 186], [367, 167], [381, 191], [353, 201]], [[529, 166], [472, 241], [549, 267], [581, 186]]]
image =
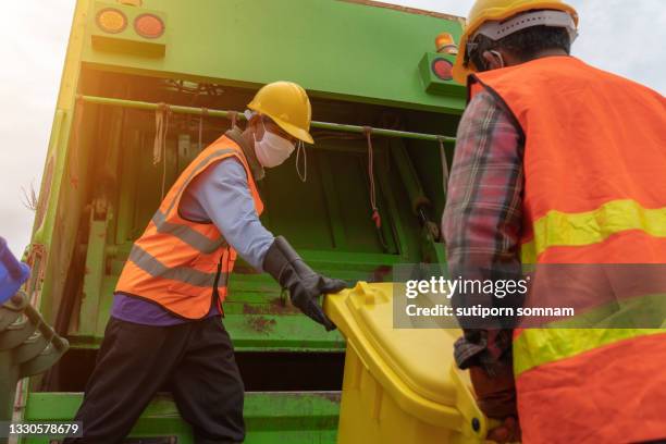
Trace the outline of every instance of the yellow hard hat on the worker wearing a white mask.
[[314, 143], [310, 135], [312, 108], [307, 92], [300, 85], [293, 82], [273, 82], [264, 85], [247, 108], [271, 118], [282, 130], [297, 139], [308, 144]]

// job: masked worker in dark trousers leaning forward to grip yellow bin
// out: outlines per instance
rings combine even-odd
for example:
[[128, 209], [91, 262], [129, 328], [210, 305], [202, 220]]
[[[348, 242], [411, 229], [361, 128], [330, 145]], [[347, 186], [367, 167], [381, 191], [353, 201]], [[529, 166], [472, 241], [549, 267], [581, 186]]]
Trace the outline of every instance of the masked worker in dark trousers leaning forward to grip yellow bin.
[[264, 169], [283, 163], [297, 141], [313, 143], [310, 101], [300, 86], [278, 82], [248, 108], [246, 130], [227, 131], [185, 169], [135, 242], [76, 415], [84, 437], [66, 442], [121, 442], [164, 384], [196, 443], [244, 441], [244, 386], [221, 321], [236, 255], [335, 328], [318, 298], [345, 283], [312, 271], [259, 220]]

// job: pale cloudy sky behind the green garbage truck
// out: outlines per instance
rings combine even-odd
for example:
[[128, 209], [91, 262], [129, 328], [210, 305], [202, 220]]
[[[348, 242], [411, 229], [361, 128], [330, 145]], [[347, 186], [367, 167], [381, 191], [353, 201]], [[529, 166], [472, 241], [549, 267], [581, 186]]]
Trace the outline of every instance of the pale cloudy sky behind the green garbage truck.
[[[250, 1], [250, 0], [247, 0]], [[279, 0], [273, 0], [279, 1]], [[466, 16], [473, 0], [384, 0]], [[664, 0], [569, 0], [580, 36], [574, 54], [666, 94]], [[0, 236], [21, 256], [34, 213], [23, 189], [39, 189], [74, 0], [3, 2], [0, 29]]]

